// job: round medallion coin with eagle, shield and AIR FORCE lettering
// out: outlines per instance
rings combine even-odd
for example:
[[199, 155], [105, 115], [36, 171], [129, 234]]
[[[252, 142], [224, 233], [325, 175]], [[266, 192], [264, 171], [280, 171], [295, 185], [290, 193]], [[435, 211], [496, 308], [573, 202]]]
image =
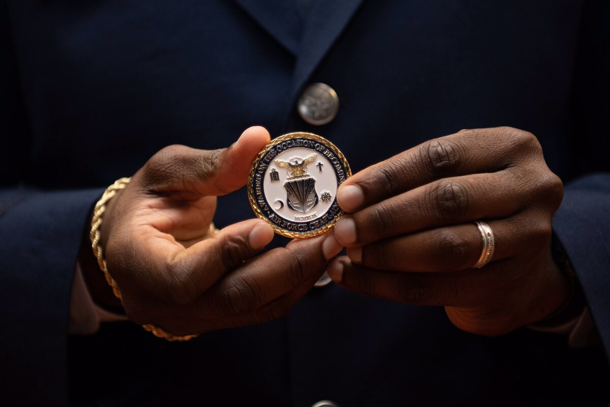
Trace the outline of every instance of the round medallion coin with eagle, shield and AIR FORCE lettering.
[[257, 217], [276, 233], [317, 236], [343, 216], [336, 195], [349, 176], [350, 165], [333, 143], [311, 133], [285, 134], [254, 160], [248, 197]]

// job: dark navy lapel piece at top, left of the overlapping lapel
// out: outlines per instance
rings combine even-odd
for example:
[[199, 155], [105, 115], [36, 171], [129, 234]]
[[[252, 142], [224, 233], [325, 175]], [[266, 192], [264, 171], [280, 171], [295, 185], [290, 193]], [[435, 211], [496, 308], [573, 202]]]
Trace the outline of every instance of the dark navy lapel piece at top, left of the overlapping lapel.
[[235, 0], [271, 37], [297, 55], [303, 20], [294, 0]]

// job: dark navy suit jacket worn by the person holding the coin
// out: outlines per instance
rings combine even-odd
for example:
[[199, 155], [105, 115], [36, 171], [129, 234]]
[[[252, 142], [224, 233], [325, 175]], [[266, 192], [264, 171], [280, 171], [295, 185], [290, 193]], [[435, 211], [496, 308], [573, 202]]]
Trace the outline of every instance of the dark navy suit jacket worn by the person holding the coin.
[[[4, 405], [520, 405], [606, 400], [602, 347], [464, 333], [442, 308], [314, 289], [277, 322], [159, 340], [67, 335], [102, 187], [163, 146], [253, 124], [312, 131], [354, 170], [462, 128], [533, 132], [566, 184], [554, 218], [610, 348], [610, 14], [605, 1], [0, 1], [0, 392]], [[331, 123], [295, 101], [325, 82]], [[252, 217], [242, 191], [219, 226]]]

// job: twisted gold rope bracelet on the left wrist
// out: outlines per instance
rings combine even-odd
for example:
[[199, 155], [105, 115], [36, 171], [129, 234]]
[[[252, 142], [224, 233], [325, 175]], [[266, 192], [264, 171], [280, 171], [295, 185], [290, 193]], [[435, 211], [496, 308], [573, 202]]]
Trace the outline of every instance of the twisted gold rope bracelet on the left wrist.
[[[114, 182], [114, 184], [110, 185], [102, 194], [102, 197], [99, 198], [98, 203], [95, 204], [95, 209], [93, 209], [93, 218], [91, 219], [91, 232], [89, 237], [91, 238], [91, 249], [93, 249], [93, 254], [98, 259], [99, 268], [104, 272], [104, 276], [106, 276], [106, 281], [112, 287], [112, 292], [114, 295], [121, 300], [121, 304], [123, 304], [123, 298], [121, 297], [121, 290], [118, 289], [118, 284], [115, 279], [110, 276], [108, 272], [108, 267], [106, 265], [106, 259], [104, 259], [104, 250], [102, 250], [102, 246], [99, 244], [99, 239], [101, 233], [99, 232], [99, 228], [102, 225], [102, 215], [106, 212], [106, 204], [110, 201], [110, 198], [117, 195], [117, 192], [121, 189], [125, 189], [127, 184], [129, 184], [131, 178], [120, 178]], [[210, 225], [210, 229], [215, 227]], [[175, 336], [167, 331], [159, 328], [159, 326], [155, 325], [142, 325], [146, 331], [151, 332], [154, 336], [169, 340], [170, 342], [173, 340], [189, 340], [193, 339], [197, 335], [186, 335], [186, 336]]]

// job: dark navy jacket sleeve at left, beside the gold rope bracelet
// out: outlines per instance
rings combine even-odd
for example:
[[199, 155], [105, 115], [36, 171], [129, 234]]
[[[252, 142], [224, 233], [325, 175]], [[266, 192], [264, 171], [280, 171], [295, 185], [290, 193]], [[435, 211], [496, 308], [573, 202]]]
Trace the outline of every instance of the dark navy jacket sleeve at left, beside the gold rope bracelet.
[[[66, 404], [66, 339], [74, 267], [91, 207], [103, 190], [4, 190], [0, 201], [3, 386], [27, 405]], [[4, 400], [11, 403], [11, 400]]]

